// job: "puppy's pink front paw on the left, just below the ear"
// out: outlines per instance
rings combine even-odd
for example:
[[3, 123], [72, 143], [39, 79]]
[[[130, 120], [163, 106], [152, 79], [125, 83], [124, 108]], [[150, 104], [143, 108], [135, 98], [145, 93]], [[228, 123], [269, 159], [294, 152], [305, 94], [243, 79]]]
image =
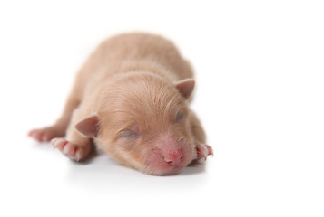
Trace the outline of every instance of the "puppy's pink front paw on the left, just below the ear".
[[84, 147], [76, 145], [64, 138], [54, 138], [51, 141], [51, 145], [53, 145], [54, 148], [59, 149], [65, 156], [68, 156], [75, 161], [84, 160], [89, 154], [89, 148], [87, 148], [87, 146]]

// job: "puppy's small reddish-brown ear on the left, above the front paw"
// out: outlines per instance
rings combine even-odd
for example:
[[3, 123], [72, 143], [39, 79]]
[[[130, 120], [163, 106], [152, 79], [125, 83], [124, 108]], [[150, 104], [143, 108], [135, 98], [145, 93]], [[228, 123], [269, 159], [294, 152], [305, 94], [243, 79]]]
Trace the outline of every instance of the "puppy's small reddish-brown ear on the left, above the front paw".
[[99, 118], [91, 116], [75, 125], [75, 128], [86, 137], [97, 137], [99, 131]]

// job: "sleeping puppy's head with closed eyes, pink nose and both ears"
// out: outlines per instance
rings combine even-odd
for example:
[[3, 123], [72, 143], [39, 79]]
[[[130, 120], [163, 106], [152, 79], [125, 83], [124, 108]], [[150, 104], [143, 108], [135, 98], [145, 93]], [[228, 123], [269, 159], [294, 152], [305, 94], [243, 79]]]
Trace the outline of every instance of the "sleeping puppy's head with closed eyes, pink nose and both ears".
[[123, 165], [172, 175], [196, 157], [190, 110], [193, 80], [173, 84], [151, 73], [127, 73], [102, 92], [96, 116], [76, 128]]

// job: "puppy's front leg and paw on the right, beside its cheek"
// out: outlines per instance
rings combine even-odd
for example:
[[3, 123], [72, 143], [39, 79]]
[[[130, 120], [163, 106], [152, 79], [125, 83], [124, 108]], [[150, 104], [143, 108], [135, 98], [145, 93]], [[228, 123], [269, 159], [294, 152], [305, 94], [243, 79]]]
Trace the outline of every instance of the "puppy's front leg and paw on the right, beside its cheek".
[[201, 122], [193, 112], [191, 112], [191, 132], [196, 142], [196, 150], [197, 150], [196, 160], [199, 160], [201, 158], [206, 159], [207, 156], [213, 155], [211, 146], [205, 144], [206, 135], [201, 127]]

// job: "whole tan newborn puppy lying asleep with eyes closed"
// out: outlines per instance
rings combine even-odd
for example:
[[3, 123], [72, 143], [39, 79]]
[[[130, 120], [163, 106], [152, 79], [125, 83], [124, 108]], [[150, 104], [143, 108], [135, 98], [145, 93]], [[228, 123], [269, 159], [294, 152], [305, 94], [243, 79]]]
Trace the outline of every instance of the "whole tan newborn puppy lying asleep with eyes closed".
[[29, 136], [52, 139], [76, 161], [89, 156], [93, 141], [117, 162], [146, 174], [179, 173], [212, 155], [188, 107], [192, 77], [172, 42], [146, 33], [115, 36], [78, 71], [61, 118]]

